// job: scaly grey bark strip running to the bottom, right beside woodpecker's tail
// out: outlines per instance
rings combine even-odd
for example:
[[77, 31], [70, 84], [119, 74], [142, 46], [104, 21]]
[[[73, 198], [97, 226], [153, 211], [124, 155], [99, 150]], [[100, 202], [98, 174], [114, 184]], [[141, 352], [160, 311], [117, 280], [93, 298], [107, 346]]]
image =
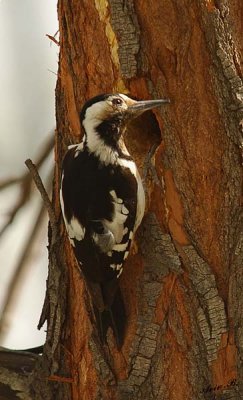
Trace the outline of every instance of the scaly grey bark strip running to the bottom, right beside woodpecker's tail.
[[[144, 273], [138, 287], [137, 329], [130, 349], [128, 378], [118, 384], [121, 399], [133, 400], [146, 398], [146, 393], [147, 398], [151, 398], [151, 388], [154, 396], [161, 391], [161, 382], [151, 374], [151, 368], [155, 366], [163, 374], [159, 351], [162, 328], [156, 323], [157, 302], [163, 292], [164, 278], [170, 273], [182, 272], [171, 237], [162, 233], [154, 214], [150, 213], [144, 219], [139, 240]], [[167, 312], [169, 306], [165, 310], [165, 321]]]

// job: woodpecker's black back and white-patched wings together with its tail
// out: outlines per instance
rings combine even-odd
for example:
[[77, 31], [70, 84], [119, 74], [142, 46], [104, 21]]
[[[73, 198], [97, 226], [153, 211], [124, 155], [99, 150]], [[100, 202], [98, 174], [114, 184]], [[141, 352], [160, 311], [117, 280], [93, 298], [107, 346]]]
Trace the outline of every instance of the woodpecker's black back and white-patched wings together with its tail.
[[102, 342], [111, 326], [118, 347], [126, 312], [117, 278], [133, 236], [136, 196], [137, 182], [129, 168], [109, 171], [96, 165], [80, 145], [68, 150], [60, 191], [64, 222], [91, 293]]

